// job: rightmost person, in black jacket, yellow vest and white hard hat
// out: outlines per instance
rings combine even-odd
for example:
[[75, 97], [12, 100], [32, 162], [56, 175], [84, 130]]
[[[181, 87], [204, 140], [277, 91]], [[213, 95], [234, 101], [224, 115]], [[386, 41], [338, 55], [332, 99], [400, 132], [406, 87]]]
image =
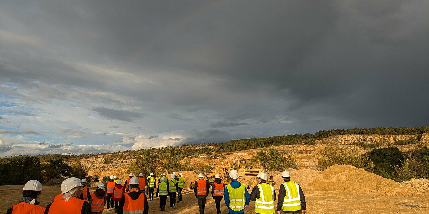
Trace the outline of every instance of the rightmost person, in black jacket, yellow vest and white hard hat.
[[278, 191], [277, 214], [280, 214], [281, 210], [287, 214], [305, 214], [305, 196], [301, 187], [296, 182], [290, 181], [288, 171], [281, 172], [281, 178], [283, 178], [284, 183], [280, 185]]

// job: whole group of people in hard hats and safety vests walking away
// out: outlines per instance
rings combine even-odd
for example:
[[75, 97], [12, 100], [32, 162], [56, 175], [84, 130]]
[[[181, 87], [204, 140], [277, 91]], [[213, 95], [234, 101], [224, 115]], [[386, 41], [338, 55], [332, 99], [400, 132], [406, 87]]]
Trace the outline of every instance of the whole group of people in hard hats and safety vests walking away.
[[[107, 211], [115, 208], [117, 214], [148, 214], [149, 201], [156, 196], [160, 198], [160, 211], [166, 211], [166, 200], [169, 196], [170, 208], [176, 208], [177, 202], [182, 202], [182, 189], [184, 178], [182, 173], [175, 172], [167, 178], [163, 173], [158, 182], [151, 173], [147, 178], [140, 173], [134, 177], [132, 173], [122, 185], [121, 180], [110, 176], [106, 185], [103, 182], [97, 184], [97, 188], [90, 193], [86, 186], [86, 180], [79, 178], [67, 178], [61, 184], [61, 193], [52, 199], [46, 208], [39, 205], [37, 199], [42, 193], [42, 184], [39, 181], [28, 181], [23, 188], [21, 201], [6, 211], [6, 214], [102, 214], [107, 204]], [[219, 175], [215, 175], [215, 181], [211, 184], [211, 196], [215, 200], [217, 214], [221, 214], [221, 201], [224, 199], [229, 214], [242, 214], [250, 201], [255, 201], [254, 212], [257, 214], [305, 214], [305, 196], [301, 187], [296, 182], [290, 181], [290, 173], [284, 171], [281, 176], [284, 183], [280, 185], [278, 197], [274, 188], [267, 184], [267, 175], [260, 172], [257, 175], [258, 185], [249, 194], [245, 185], [237, 179], [238, 172], [230, 170], [230, 184], [225, 185]], [[198, 175], [195, 181], [194, 193], [198, 199], [199, 214], [204, 214], [206, 198], [209, 194], [210, 183], [203, 180], [203, 175]], [[158, 185], [157, 185], [158, 184]], [[149, 194], [148, 194], [149, 193]], [[278, 199], [277, 206], [275, 200]]]

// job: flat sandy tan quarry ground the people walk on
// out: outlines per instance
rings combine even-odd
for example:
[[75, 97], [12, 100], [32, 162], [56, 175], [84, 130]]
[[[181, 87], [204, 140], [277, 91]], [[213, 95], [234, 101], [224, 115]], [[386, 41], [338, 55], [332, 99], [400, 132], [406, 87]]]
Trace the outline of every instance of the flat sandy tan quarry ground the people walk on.
[[[0, 213], [5, 213], [6, 209], [19, 202], [21, 199], [22, 185], [0, 186]], [[92, 191], [92, 190], [91, 190]], [[249, 190], [250, 191], [250, 190]], [[42, 195], [39, 201], [42, 206], [50, 203], [51, 199], [60, 193], [60, 187], [43, 186]], [[344, 191], [322, 191], [322, 190], [304, 190], [307, 201], [308, 214], [416, 214], [429, 213], [429, 195], [388, 195], [378, 193], [359, 193]], [[193, 190], [184, 190], [183, 202], [176, 203], [176, 209], [169, 208], [169, 199], [165, 213], [175, 214], [198, 214], [197, 199]], [[176, 196], [177, 199], [177, 196]], [[149, 203], [150, 214], [161, 214], [159, 211], [159, 199]], [[227, 214], [228, 210], [225, 204], [221, 203], [222, 214]], [[254, 213], [254, 202], [250, 203], [245, 210], [245, 214]], [[103, 214], [115, 214], [115, 211]], [[215, 201], [208, 196], [205, 206], [205, 214], [216, 214]]]

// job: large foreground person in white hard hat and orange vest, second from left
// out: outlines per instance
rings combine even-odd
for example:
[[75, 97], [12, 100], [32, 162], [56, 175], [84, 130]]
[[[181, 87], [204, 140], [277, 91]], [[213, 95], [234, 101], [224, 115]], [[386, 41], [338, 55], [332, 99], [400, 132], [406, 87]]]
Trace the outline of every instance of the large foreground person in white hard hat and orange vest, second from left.
[[84, 185], [79, 178], [67, 178], [61, 184], [61, 200], [50, 203], [45, 214], [91, 214], [91, 206], [87, 201], [79, 199]]

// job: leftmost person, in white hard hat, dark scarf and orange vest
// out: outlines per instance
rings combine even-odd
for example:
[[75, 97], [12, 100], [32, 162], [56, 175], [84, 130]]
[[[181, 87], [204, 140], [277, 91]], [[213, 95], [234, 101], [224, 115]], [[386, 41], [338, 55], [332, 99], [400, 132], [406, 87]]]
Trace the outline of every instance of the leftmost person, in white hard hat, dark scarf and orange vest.
[[39, 206], [37, 198], [42, 193], [42, 184], [39, 181], [27, 181], [22, 189], [22, 198], [17, 205], [13, 205], [6, 211], [6, 214], [43, 214], [45, 208]]

